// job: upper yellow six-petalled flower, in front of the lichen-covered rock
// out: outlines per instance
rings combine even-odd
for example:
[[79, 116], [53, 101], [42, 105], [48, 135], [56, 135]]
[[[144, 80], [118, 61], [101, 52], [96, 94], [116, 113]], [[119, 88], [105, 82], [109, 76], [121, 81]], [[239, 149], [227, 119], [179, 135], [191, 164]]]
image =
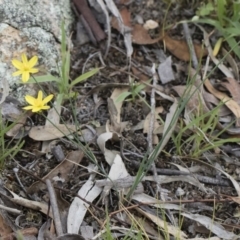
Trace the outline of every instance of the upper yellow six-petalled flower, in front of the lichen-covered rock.
[[34, 56], [29, 61], [25, 53], [21, 56], [22, 62], [18, 61], [17, 59], [12, 60], [12, 65], [18, 69], [18, 71], [14, 72], [13, 76], [18, 76], [22, 74], [22, 81], [25, 83], [30, 78], [30, 73], [37, 73], [38, 69], [33, 68], [38, 61], [38, 57]]

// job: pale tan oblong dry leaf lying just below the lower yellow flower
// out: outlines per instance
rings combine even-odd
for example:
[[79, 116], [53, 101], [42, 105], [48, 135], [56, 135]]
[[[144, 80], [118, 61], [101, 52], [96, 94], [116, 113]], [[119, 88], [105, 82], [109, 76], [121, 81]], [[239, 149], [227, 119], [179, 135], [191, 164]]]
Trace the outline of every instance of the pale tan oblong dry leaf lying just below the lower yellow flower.
[[55, 124], [55, 126], [32, 127], [29, 137], [36, 141], [48, 141], [76, 132], [75, 125]]

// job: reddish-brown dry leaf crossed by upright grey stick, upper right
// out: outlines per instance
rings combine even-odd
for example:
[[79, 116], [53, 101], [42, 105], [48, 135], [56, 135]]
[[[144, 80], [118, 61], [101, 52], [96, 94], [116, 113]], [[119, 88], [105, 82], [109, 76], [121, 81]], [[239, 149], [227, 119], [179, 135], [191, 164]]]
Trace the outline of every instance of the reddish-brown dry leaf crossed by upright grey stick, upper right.
[[[171, 52], [175, 57], [183, 61], [191, 60], [191, 55], [186, 41], [172, 39], [166, 33], [163, 40], [166, 44], [167, 50]], [[203, 49], [201, 44], [194, 44], [194, 49], [198, 59], [208, 54], [207, 50]]]

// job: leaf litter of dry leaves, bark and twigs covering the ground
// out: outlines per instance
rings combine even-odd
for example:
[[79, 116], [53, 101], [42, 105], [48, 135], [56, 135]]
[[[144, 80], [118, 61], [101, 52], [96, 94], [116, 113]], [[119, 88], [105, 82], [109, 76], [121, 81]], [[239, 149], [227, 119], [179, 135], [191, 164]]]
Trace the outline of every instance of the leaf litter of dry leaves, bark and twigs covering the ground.
[[[240, 170], [234, 161], [227, 164], [221, 160], [222, 156], [234, 157], [231, 151], [224, 152], [221, 144], [228, 143], [232, 151], [239, 147], [235, 139], [240, 119], [238, 62], [232, 54], [221, 61], [218, 55], [213, 56], [209, 29], [206, 31], [199, 26], [199, 31], [189, 23], [191, 30], [201, 35], [200, 40], [205, 43], [204, 47], [199, 39], [194, 41], [200, 65], [193, 77], [188, 65], [191, 51], [180, 34], [181, 25], [172, 25], [166, 30], [163, 17], [157, 17], [164, 16], [159, 10], [160, 5], [162, 9], [164, 5], [153, 1], [127, 1], [128, 6], [123, 6], [125, 2], [100, 2], [96, 17], [104, 16], [102, 23], [108, 31], [104, 66], [100, 74], [74, 89], [79, 95], [74, 99], [74, 110], [70, 101], [64, 106], [55, 103], [55, 108], [45, 115], [49, 121], [41, 115], [23, 113], [16, 99], [9, 100], [6, 86], [1, 114], [6, 122], [18, 121], [6, 135], [12, 141], [24, 139], [26, 143], [22, 151], [8, 158], [4, 169], [7, 177], [1, 185], [9, 191], [1, 194], [3, 204], [24, 211], [26, 216], [19, 217], [19, 226], [25, 229], [37, 226], [39, 232], [32, 235], [38, 237], [48, 233], [58, 239], [71, 235], [78, 239], [83, 236], [106, 239], [109, 229], [116, 239], [127, 234], [137, 239], [137, 232], [147, 236], [148, 231], [162, 239], [170, 236], [175, 239], [237, 239], [239, 228], [235, 216], [240, 197]], [[93, 3], [90, 5], [95, 8]], [[184, 9], [184, 5], [180, 7]], [[175, 11], [172, 10], [167, 16], [170, 22]], [[164, 47], [166, 58], [160, 61], [156, 52], [163, 51]], [[103, 64], [97, 58], [84, 62], [88, 54], [95, 51], [96, 46], [91, 44], [81, 49], [75, 45], [72, 64], [79, 58], [82, 63], [79, 68], [71, 69], [72, 79], [85, 68]], [[151, 72], [155, 64], [157, 77]], [[175, 68], [176, 65], [183, 65], [183, 68]], [[192, 83], [189, 83], [189, 76]], [[154, 77], [156, 82], [152, 84]], [[143, 84], [134, 98], [132, 83]], [[153, 89], [154, 105], [151, 104]], [[123, 95], [124, 99], [118, 101]], [[205, 126], [212, 119], [207, 114], [216, 107], [219, 108], [214, 114], [216, 124], [211, 122], [207, 130], [196, 125], [200, 122]], [[207, 117], [201, 116], [204, 114]], [[229, 119], [226, 120], [228, 127], [223, 117]], [[177, 139], [188, 125], [188, 131]], [[199, 149], [208, 145], [196, 158], [191, 153], [200, 133], [205, 142]], [[192, 136], [195, 136], [194, 142], [189, 141]], [[220, 148], [213, 147], [215, 142], [221, 143]], [[177, 144], [181, 154], [176, 150]], [[59, 160], [57, 155], [49, 154], [55, 145], [66, 157]], [[153, 149], [149, 149], [150, 145]], [[155, 170], [150, 162], [155, 163]], [[16, 166], [18, 173], [13, 171]], [[197, 172], [194, 167], [198, 168]], [[51, 201], [51, 209], [48, 203], [53, 195], [46, 187], [48, 180], [53, 183], [57, 200], [57, 207]], [[131, 191], [133, 186], [136, 187]], [[177, 194], [180, 189], [181, 196]], [[197, 203], [202, 207], [196, 207]], [[216, 204], [222, 204], [222, 208], [213, 211]], [[61, 215], [63, 233], [60, 236], [58, 220], [53, 214], [56, 208]], [[131, 218], [124, 222], [124, 215]], [[1, 216], [1, 226], [4, 226], [7, 217]], [[50, 224], [46, 217], [50, 218]], [[133, 228], [134, 222], [139, 224]], [[192, 230], [188, 227], [190, 223]], [[19, 226], [16, 229], [20, 229]], [[1, 237], [11, 234], [12, 230], [1, 233]], [[150, 233], [148, 237], [154, 238]]]

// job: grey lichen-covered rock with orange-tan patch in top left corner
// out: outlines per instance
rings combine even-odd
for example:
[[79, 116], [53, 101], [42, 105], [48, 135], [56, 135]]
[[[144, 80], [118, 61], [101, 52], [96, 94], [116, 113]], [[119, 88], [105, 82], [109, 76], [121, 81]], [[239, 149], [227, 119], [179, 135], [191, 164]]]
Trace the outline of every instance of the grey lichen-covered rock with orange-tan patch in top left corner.
[[[19, 83], [19, 76], [12, 77], [16, 69], [11, 60], [20, 60], [22, 53], [38, 56], [42, 74], [58, 72], [62, 20], [69, 33], [74, 20], [70, 0], [0, 0], [0, 88], [3, 78], [12, 89]], [[20, 101], [26, 86], [17, 89]]]

